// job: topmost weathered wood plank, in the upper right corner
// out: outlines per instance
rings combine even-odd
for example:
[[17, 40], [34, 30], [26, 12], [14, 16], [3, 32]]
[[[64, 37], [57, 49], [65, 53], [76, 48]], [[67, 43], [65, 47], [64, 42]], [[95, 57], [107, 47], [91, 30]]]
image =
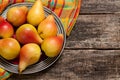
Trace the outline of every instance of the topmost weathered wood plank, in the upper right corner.
[[82, 0], [83, 13], [119, 13], [120, 0]]

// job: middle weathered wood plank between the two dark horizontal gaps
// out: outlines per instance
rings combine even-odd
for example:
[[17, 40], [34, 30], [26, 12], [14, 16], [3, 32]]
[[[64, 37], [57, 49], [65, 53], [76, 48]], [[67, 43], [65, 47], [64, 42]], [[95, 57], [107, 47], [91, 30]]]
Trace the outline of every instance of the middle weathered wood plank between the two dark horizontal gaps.
[[120, 48], [120, 15], [80, 15], [66, 48]]

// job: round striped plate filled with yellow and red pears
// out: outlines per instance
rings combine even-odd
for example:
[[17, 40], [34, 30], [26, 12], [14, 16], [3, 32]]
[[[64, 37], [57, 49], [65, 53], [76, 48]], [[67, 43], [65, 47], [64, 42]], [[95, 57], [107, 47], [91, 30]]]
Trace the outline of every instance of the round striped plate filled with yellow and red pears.
[[9, 5], [0, 16], [0, 65], [9, 72], [31, 74], [50, 67], [65, 42], [59, 17], [41, 0]]

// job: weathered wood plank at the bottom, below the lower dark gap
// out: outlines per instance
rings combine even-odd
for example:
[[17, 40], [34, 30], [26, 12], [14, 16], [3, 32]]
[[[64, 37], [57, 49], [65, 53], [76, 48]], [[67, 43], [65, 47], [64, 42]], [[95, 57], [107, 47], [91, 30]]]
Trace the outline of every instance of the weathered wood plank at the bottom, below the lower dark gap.
[[120, 50], [65, 50], [50, 68], [8, 80], [119, 80]]

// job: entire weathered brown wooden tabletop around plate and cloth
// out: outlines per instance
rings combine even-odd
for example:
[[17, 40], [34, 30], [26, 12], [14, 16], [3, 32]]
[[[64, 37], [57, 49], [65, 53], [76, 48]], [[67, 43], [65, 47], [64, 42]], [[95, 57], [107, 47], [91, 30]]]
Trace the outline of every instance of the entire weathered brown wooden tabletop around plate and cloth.
[[120, 0], [83, 0], [60, 59], [8, 80], [120, 80]]

